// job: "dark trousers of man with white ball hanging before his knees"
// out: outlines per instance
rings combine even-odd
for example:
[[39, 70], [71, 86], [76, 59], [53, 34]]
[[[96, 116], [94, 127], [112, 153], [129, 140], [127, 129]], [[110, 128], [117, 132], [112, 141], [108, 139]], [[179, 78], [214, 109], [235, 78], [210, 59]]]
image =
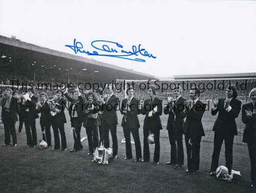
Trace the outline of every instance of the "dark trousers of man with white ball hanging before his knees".
[[[147, 142], [147, 137], [148, 137], [148, 129], [144, 129], [143, 130], [143, 158], [145, 161], [150, 160], [150, 146], [148, 145]], [[152, 131], [154, 134], [154, 140], [155, 140], [155, 152], [154, 152], [154, 162], [159, 162], [159, 158], [160, 158], [160, 130], [153, 130]], [[126, 139], [125, 139], [126, 141]]]

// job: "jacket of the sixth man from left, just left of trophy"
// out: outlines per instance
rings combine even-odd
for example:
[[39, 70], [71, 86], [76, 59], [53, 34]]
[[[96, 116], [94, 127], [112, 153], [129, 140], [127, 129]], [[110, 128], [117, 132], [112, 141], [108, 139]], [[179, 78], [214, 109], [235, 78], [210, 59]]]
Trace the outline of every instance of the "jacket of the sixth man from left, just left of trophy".
[[[85, 118], [84, 118], [84, 122], [83, 122], [83, 127], [86, 127], [87, 124], [88, 124], [88, 120], [90, 119], [90, 121], [95, 125], [95, 126], [100, 126], [101, 125], [101, 122], [100, 122], [100, 114], [98, 113], [101, 106], [99, 104], [99, 102], [97, 101], [93, 101], [92, 104], [90, 105], [90, 102], [86, 102], [84, 105], [83, 105], [83, 111], [86, 111], [87, 109], [89, 110], [92, 105], [96, 105], [96, 109], [94, 110], [91, 110], [89, 113], [86, 113], [85, 114]], [[89, 118], [88, 115], [89, 114], [95, 114], [95, 113], [98, 113], [97, 115], [97, 118]]]

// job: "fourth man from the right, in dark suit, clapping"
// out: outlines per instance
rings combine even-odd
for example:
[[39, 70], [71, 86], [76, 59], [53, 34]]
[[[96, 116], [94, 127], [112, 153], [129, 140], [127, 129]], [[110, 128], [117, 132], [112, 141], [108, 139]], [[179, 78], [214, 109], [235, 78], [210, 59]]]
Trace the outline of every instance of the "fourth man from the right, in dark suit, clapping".
[[164, 114], [169, 114], [167, 127], [170, 142], [170, 161], [166, 164], [175, 164], [178, 170], [184, 164], [183, 151], [183, 127], [184, 119], [180, 114], [184, 109], [186, 101], [182, 96], [182, 88], [178, 86], [174, 89], [175, 99], [168, 98], [168, 106], [164, 108]]

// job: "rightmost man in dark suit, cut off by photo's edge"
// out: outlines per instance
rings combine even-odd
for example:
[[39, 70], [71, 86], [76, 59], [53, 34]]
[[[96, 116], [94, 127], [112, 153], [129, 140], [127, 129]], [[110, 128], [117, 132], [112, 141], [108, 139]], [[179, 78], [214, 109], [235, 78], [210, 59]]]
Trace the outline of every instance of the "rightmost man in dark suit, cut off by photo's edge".
[[251, 161], [251, 187], [256, 188], [256, 88], [249, 93], [251, 103], [242, 107], [242, 121], [246, 125], [243, 142], [247, 143]]

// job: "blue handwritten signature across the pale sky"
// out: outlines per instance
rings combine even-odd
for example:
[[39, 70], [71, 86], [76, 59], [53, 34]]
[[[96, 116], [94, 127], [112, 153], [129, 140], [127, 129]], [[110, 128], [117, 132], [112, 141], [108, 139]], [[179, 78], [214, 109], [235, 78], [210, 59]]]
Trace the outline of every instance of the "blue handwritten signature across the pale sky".
[[[101, 48], [99, 48], [100, 46], [97, 47], [95, 45], [96, 42], [100, 42], [100, 45], [101, 45], [101, 43], [104, 43], [104, 44], [102, 45]], [[73, 45], [65, 45], [65, 46], [70, 47], [75, 52], [75, 54], [84, 53], [89, 56], [108, 56], [108, 57], [122, 58], [122, 59], [126, 59], [126, 60], [133, 60], [133, 61], [137, 61], [137, 62], [145, 62], [145, 60], [140, 59], [140, 58], [131, 59], [131, 58], [126, 58], [126, 57], [133, 56], [133, 55], [138, 56], [138, 54], [140, 54], [142, 56], [147, 56], [148, 58], [151, 58], [151, 57], [156, 58], [152, 54], [148, 54], [148, 52], [145, 49], [141, 49], [140, 48], [141, 44], [139, 44], [138, 50], [137, 50], [137, 47], [135, 45], [133, 45], [132, 51], [129, 51], [129, 52], [124, 51], [124, 50], [120, 51], [120, 49], [122, 49], [123, 46], [121, 44], [119, 44], [117, 42], [113, 42], [113, 41], [96, 40], [96, 41], [92, 41], [91, 45], [99, 51], [103, 51], [103, 52], [107, 52], [107, 53], [118, 53], [118, 51], [119, 51], [119, 53], [124, 53], [124, 54], [123, 55], [99, 54], [98, 53], [99, 51], [98, 52], [93, 51], [92, 53], [90, 53], [89, 51], [84, 51], [82, 43], [79, 41], [76, 42], [76, 39], [74, 39]], [[113, 49], [112, 47], [115, 47], [115, 49]]]

